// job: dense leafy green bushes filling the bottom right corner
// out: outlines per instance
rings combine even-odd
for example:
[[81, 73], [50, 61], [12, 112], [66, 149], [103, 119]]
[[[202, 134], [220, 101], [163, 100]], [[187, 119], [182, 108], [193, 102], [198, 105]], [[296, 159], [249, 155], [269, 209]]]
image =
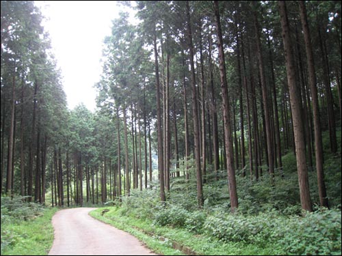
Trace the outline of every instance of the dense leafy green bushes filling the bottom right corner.
[[209, 216], [204, 228], [224, 242], [277, 244], [285, 254], [341, 255], [341, 212], [320, 210], [306, 216], [280, 216], [265, 212], [257, 216], [224, 214]]

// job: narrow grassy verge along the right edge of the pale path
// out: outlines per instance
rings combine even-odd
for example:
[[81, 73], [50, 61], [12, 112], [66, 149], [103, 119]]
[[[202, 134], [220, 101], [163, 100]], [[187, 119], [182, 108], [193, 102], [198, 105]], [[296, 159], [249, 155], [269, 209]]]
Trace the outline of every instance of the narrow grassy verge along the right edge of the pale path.
[[[281, 254], [279, 248], [269, 244], [261, 248], [255, 244], [242, 242], [221, 242], [205, 235], [196, 235], [190, 231], [174, 227], [153, 225], [150, 220], [142, 220], [129, 215], [120, 214], [120, 208], [107, 208], [101, 216], [103, 208], [90, 212], [100, 221], [113, 225], [131, 233], [144, 242], [148, 248], [161, 255], [274, 255]], [[174, 248], [175, 247], [175, 248]]]

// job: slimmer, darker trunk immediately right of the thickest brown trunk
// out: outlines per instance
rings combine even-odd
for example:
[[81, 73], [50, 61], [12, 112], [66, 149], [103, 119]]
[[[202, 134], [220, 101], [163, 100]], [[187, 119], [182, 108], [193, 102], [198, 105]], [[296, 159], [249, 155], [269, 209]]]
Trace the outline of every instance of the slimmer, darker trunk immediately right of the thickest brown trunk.
[[313, 48], [311, 46], [310, 30], [308, 28], [308, 21], [306, 17], [305, 2], [300, 1], [300, 18], [304, 31], [304, 42], [306, 59], [308, 62], [308, 76], [311, 88], [311, 101], [313, 104], [313, 122], [315, 130], [315, 156], [316, 156], [316, 170], [317, 170], [317, 184], [319, 191], [319, 203], [321, 206], [328, 207], [328, 197], [326, 195], [326, 185], [324, 182], [323, 169], [323, 146], [321, 139], [321, 123], [319, 118], [319, 102], [317, 96], [317, 81], [315, 73], [315, 63], [313, 59]]

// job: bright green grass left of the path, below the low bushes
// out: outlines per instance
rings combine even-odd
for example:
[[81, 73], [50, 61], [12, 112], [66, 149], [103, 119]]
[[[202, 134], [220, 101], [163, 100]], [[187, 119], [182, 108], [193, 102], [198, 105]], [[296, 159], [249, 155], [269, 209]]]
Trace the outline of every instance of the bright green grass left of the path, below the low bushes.
[[44, 208], [42, 215], [29, 221], [1, 220], [1, 255], [47, 255], [53, 243], [51, 218], [57, 210]]

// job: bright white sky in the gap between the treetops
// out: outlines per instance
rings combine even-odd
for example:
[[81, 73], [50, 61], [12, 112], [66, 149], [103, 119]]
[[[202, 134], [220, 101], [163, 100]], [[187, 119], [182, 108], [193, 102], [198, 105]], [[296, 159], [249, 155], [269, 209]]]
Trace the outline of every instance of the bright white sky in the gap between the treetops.
[[68, 108], [83, 102], [96, 109], [94, 84], [102, 72], [103, 40], [111, 34], [111, 20], [118, 18], [117, 1], [35, 1], [47, 18], [57, 66], [62, 70]]

